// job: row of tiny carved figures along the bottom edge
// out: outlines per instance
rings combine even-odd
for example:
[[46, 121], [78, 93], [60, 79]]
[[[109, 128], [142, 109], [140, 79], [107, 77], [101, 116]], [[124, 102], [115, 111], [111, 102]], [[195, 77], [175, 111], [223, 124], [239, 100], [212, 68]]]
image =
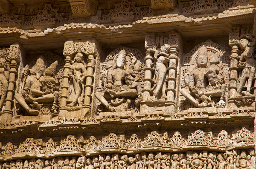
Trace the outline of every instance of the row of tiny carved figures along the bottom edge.
[[136, 155], [18, 159], [0, 163], [0, 169], [253, 169], [255, 165], [254, 149], [234, 149], [224, 153], [205, 150], [187, 151], [186, 154], [142, 152]]

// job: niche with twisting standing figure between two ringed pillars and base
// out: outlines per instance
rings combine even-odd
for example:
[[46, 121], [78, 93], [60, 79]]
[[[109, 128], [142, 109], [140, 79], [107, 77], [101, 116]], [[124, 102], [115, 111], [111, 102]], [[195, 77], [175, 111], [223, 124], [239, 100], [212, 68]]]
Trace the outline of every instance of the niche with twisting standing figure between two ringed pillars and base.
[[147, 35], [145, 38], [145, 77], [140, 113], [174, 114], [176, 105], [177, 75], [180, 60], [180, 35]]

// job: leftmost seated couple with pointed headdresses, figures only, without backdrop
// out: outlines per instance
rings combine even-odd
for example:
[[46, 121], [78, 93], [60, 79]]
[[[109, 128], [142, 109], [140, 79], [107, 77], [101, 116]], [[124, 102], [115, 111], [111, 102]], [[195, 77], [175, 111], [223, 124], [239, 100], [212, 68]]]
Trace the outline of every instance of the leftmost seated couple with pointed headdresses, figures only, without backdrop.
[[55, 61], [45, 69], [45, 58], [39, 57], [26, 78], [22, 94], [15, 94], [15, 99], [28, 115], [38, 115], [43, 103], [51, 105], [52, 116], [58, 115], [58, 80], [52, 77], [57, 66], [58, 61]]

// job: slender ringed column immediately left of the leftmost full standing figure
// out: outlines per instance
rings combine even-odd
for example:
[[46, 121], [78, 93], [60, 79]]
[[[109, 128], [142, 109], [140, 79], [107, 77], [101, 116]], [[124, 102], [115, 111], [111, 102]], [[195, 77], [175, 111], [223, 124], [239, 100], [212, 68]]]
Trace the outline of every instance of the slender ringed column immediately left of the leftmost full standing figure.
[[60, 110], [66, 109], [67, 106], [67, 95], [68, 95], [68, 73], [70, 72], [71, 68], [71, 62], [72, 62], [72, 52], [73, 51], [73, 41], [67, 41], [64, 44], [64, 50], [63, 54], [64, 57], [66, 57], [65, 65], [64, 65], [64, 74], [63, 74], [63, 85], [61, 86], [62, 88], [62, 95], [61, 95], [61, 106]]

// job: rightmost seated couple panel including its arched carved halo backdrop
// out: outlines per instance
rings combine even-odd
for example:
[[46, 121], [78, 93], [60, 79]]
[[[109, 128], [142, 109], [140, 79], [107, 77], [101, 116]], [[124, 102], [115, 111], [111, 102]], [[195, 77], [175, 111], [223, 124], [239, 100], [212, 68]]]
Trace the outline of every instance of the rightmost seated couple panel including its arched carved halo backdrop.
[[224, 108], [227, 102], [230, 61], [224, 48], [210, 40], [185, 55], [180, 80], [180, 110]]

